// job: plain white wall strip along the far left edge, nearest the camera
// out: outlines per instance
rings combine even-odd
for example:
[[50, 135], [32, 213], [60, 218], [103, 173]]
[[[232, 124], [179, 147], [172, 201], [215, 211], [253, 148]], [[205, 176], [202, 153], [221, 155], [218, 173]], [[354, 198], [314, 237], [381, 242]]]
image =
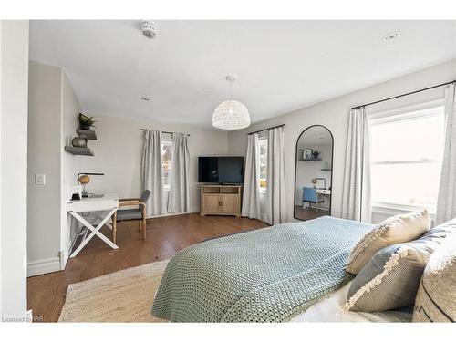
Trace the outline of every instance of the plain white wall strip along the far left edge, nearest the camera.
[[1, 21], [0, 315], [26, 318], [28, 21]]

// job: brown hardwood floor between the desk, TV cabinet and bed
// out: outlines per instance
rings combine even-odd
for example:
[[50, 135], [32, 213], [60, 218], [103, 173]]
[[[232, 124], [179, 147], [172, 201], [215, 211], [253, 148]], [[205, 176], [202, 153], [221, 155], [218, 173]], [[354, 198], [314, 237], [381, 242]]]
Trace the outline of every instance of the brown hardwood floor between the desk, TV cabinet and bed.
[[[231, 216], [201, 217], [197, 213], [168, 216], [147, 221], [147, 237], [144, 241], [138, 223], [118, 223], [118, 250], [112, 250], [98, 237], [94, 237], [76, 258], [69, 259], [65, 271], [28, 278], [28, 309], [33, 309], [36, 321], [57, 322], [69, 284], [169, 259], [182, 248], [210, 237], [267, 225], [257, 220]], [[110, 238], [106, 226], [101, 232]]]

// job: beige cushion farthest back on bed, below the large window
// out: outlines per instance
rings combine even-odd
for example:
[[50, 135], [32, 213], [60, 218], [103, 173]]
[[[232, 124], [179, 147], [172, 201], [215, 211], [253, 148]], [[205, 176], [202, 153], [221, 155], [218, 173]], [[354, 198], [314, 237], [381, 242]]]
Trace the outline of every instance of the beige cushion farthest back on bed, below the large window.
[[429, 228], [430, 216], [427, 210], [389, 217], [358, 241], [348, 259], [347, 272], [357, 275], [379, 250], [391, 244], [415, 240]]

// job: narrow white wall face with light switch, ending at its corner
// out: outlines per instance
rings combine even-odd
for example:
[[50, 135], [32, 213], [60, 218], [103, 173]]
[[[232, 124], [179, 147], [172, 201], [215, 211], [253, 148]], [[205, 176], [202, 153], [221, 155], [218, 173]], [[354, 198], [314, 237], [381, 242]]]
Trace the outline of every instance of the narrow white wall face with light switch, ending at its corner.
[[[60, 269], [62, 70], [30, 61], [28, 83], [27, 259], [30, 275]], [[36, 185], [36, 173], [46, 175]]]

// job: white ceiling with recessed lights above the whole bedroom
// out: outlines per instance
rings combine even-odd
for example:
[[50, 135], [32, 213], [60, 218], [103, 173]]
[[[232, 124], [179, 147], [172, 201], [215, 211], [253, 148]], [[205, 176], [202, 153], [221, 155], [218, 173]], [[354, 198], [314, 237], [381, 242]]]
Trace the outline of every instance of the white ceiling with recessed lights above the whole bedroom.
[[140, 23], [31, 21], [30, 58], [64, 67], [86, 112], [211, 127], [230, 73], [257, 122], [456, 57], [456, 21], [157, 21], [152, 40]]

